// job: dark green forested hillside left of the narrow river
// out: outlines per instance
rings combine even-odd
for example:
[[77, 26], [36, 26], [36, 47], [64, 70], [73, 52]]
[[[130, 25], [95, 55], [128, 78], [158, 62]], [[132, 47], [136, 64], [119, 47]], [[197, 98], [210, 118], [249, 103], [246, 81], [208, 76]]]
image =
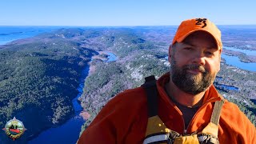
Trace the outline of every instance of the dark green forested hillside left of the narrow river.
[[0, 47], [0, 126], [18, 118], [28, 129], [23, 139], [74, 114], [71, 100], [78, 94], [78, 79], [97, 54], [77, 42], [53, 38], [56, 34]]

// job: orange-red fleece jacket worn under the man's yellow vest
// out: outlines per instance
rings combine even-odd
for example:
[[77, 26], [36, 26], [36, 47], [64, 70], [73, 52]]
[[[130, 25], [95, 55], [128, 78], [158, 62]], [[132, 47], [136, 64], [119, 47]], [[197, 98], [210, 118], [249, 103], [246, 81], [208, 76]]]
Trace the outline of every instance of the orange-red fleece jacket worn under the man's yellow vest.
[[[183, 134], [182, 112], [170, 101], [164, 85], [169, 74], [158, 79], [158, 116], [170, 130]], [[220, 100], [217, 90], [206, 90], [203, 105], [192, 118], [186, 133], [201, 131], [209, 122], [213, 102]], [[82, 133], [78, 144], [137, 144], [142, 143], [148, 120], [146, 91], [142, 87], [126, 90], [110, 100]], [[232, 102], [225, 101], [219, 120], [218, 139], [222, 143], [256, 144], [256, 129], [246, 115]]]

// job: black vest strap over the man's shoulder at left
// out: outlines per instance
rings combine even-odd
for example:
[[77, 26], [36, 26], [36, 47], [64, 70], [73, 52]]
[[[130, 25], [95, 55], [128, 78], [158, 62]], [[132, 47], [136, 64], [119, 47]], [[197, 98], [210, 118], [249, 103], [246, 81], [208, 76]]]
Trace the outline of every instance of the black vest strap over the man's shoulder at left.
[[151, 75], [145, 78], [145, 83], [142, 85], [146, 90], [149, 118], [158, 115], [158, 88], [156, 82], [154, 75]]

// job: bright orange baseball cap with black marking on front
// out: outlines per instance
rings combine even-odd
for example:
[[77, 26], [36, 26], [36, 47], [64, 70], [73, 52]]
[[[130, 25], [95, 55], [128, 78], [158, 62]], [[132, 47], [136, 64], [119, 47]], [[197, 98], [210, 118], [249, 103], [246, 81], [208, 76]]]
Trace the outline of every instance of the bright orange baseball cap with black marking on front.
[[203, 30], [208, 32], [216, 40], [218, 49], [222, 49], [221, 31], [214, 25], [213, 22], [206, 18], [194, 18], [183, 21], [174, 36], [172, 44], [175, 42], [182, 42], [188, 35], [194, 31]]

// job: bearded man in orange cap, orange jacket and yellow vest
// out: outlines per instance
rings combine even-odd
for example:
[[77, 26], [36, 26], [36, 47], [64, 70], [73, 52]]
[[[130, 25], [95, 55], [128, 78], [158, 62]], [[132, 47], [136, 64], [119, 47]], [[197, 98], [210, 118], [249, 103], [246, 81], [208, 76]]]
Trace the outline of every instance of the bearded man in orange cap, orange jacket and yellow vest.
[[255, 126], [214, 88], [221, 32], [185, 20], [169, 48], [170, 72], [110, 100], [78, 143], [256, 143]]

